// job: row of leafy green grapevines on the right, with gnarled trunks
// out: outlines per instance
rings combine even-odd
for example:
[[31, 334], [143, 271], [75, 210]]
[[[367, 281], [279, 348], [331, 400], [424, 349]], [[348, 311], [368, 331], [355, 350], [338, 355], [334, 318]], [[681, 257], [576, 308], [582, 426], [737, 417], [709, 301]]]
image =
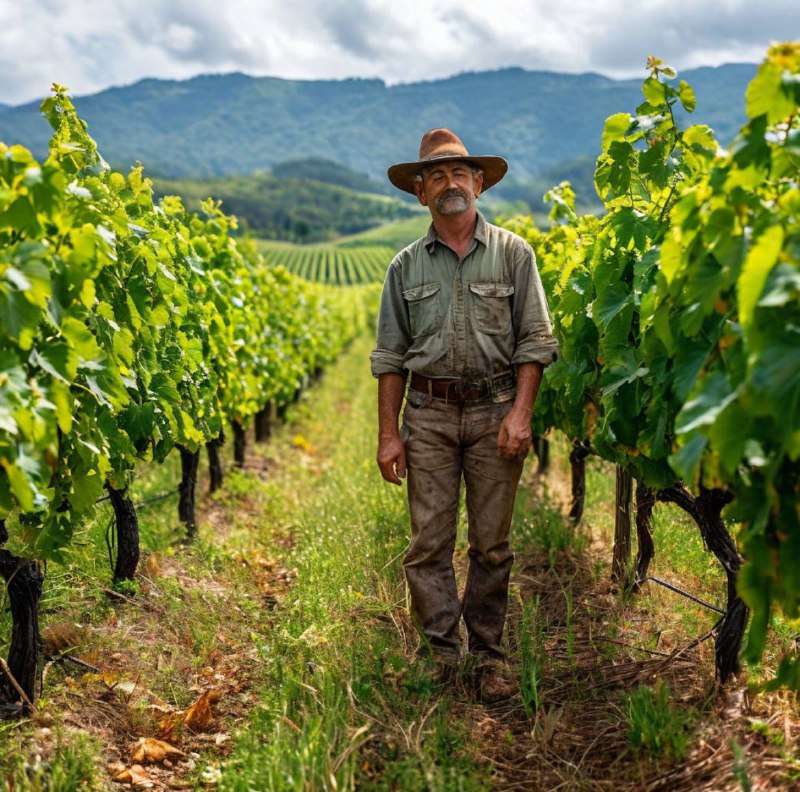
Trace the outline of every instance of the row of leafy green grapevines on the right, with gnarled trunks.
[[[562, 346], [534, 430], [564, 432], [577, 470], [588, 454], [616, 464], [618, 511], [637, 482], [639, 558], [620, 532], [614, 565], [630, 589], [647, 579], [655, 502], [695, 520], [727, 577], [724, 680], [748, 611], [751, 662], [773, 618], [800, 617], [800, 43], [770, 48], [729, 150], [707, 126], [679, 127], [673, 108], [692, 112], [694, 91], [649, 68], [642, 104], [605, 124], [605, 214], [579, 216], [565, 183], [547, 196], [550, 230], [507, 225], [536, 251]], [[774, 684], [800, 689], [796, 653]]]

